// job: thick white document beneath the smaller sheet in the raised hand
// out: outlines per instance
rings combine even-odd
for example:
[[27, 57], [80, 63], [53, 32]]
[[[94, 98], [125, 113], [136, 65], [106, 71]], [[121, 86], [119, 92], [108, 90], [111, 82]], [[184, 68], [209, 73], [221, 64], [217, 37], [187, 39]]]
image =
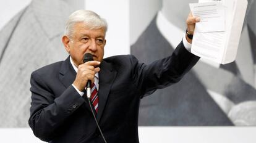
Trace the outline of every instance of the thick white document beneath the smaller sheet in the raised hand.
[[[199, 2], [209, 1], [215, 0], [199, 0]], [[225, 10], [225, 31], [202, 33], [196, 26], [191, 52], [203, 59], [225, 64], [236, 59], [248, 2], [247, 0], [221, 0], [220, 2], [223, 2]]]

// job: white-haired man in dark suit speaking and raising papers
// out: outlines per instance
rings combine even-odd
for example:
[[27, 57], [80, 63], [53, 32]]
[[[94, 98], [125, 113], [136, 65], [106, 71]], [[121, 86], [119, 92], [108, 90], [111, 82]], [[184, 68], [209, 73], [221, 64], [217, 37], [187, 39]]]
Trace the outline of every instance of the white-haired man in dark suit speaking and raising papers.
[[[193, 34], [198, 18], [190, 14], [187, 30]], [[90, 10], [70, 15], [62, 37], [65, 61], [32, 73], [32, 104], [28, 121], [35, 136], [49, 142], [103, 142], [86, 93], [92, 81], [93, 112], [107, 142], [139, 142], [140, 99], [177, 81], [192, 68], [198, 57], [187, 51], [192, 39], [184, 36], [173, 55], [145, 65], [132, 55], [103, 59], [106, 21]], [[188, 43], [189, 42], [189, 43]], [[186, 45], [186, 47], [184, 46]], [[85, 53], [93, 61], [83, 63]]]

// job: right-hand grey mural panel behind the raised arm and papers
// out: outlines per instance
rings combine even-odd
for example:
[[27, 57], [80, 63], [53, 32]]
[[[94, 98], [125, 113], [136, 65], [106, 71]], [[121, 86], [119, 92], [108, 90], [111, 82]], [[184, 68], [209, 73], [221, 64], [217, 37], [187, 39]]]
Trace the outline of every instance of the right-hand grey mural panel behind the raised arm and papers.
[[[197, 1], [163, 0], [160, 1], [162, 7], [158, 10], [169, 23], [185, 32], [185, 20], [189, 13], [190, 2]], [[131, 3], [135, 4], [135, 1]], [[255, 3], [249, 1], [236, 61], [217, 67], [214, 63], [200, 61], [179, 83], [144, 97], [140, 106], [139, 125], [256, 125]], [[147, 3], [142, 5], [145, 6], [147, 7]], [[135, 18], [132, 17], [134, 11], [139, 11], [138, 7], [130, 7], [131, 22], [140, 23], [137, 20], [133, 21], [134, 19], [147, 21], [148, 18], [140, 17], [143, 15], [140, 13], [148, 12], [152, 15], [150, 10], [142, 10], [134, 16]], [[148, 22], [147, 27], [143, 27], [139, 36], [137, 31], [133, 31], [136, 29], [134, 28], [136, 24], [130, 28], [130, 39], [138, 37], [135, 42], [131, 41], [131, 54], [134, 54], [140, 62], [151, 63], [170, 55], [175, 48], [159, 29], [158, 10], [154, 10], [153, 18]]]

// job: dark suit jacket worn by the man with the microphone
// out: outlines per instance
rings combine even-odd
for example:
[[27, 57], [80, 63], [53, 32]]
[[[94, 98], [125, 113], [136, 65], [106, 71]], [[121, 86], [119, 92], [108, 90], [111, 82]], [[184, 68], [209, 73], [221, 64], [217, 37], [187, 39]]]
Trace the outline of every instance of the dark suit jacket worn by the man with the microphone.
[[[198, 57], [181, 43], [174, 54], [150, 65], [132, 55], [109, 57], [101, 62], [99, 107], [96, 118], [107, 142], [139, 142], [140, 99], [177, 81]], [[75, 71], [69, 58], [32, 73], [29, 125], [35, 136], [50, 142], [103, 142], [87, 100], [71, 85]]]

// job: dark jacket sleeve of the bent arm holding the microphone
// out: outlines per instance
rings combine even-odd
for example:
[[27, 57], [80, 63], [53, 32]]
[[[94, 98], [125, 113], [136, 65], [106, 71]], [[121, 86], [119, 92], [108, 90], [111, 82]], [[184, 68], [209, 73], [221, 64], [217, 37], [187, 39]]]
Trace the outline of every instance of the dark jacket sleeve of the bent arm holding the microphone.
[[61, 125], [85, 100], [72, 85], [55, 98], [36, 71], [32, 73], [30, 83], [32, 102], [28, 124], [36, 137], [42, 141], [51, 141], [56, 133], [61, 132]]

